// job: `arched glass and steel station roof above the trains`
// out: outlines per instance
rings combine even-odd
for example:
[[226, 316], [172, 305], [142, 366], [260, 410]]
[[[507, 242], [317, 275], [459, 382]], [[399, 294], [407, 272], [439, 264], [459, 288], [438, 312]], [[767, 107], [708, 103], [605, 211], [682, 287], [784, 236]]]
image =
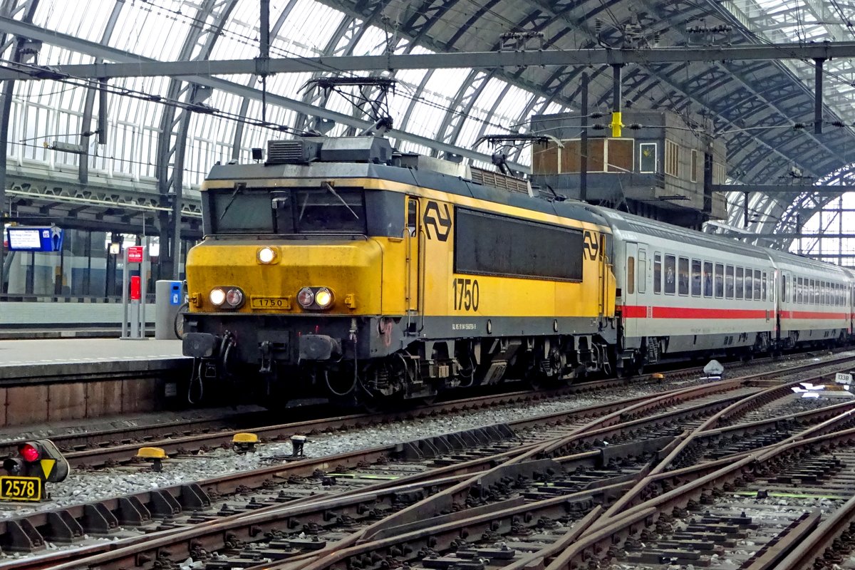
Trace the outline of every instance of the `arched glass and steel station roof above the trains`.
[[[397, 81], [388, 99], [391, 136], [404, 150], [486, 162], [491, 149], [476, 145], [485, 134], [524, 134], [531, 115], [577, 113], [582, 73], [590, 78], [592, 108], [610, 110], [613, 70], [581, 63], [575, 57], [580, 50], [714, 50], [855, 40], [852, 6], [836, 0], [270, 0], [269, 56], [312, 57], [315, 69], [276, 73], [263, 82], [257, 74], [114, 78], [100, 85], [105, 99], [91, 77], [50, 73], [77, 63], [255, 58], [259, 4], [91, 0], [83, 9], [61, 0], [5, 2], [7, 15], [0, 17], [7, 34], [5, 67], [40, 79], [14, 84], [9, 157], [19, 165], [19, 179], [31, 175], [27, 168], [33, 165], [43, 165], [46, 175], [70, 173], [81, 183], [78, 191], [107, 179], [112, 187], [154, 195], [148, 201], [125, 197], [109, 215], [121, 219], [124, 208], [156, 212], [162, 208], [158, 197], [180, 186], [191, 200], [192, 188], [210, 166], [233, 158], [249, 161], [251, 149], [268, 138], [306, 128], [333, 134], [360, 130], [368, 119], [364, 105], [355, 109], [335, 92], [306, 85], [310, 79], [367, 74]], [[16, 45], [15, 37], [32, 41]], [[562, 50], [568, 64], [356, 73], [337, 68], [336, 59], [509, 50]], [[735, 181], [842, 182], [855, 162], [855, 74], [849, 59], [823, 62], [823, 132], [817, 133], [815, 69], [814, 60], [799, 56], [634, 62], [623, 68], [622, 96], [634, 108], [710, 117], [716, 136], [728, 145], [728, 175]], [[369, 99], [370, 89], [362, 90]], [[688, 121], [687, 128], [693, 128]], [[85, 154], [62, 151], [56, 141], [81, 145]], [[528, 150], [511, 149], [510, 160], [525, 167]], [[77, 172], [81, 168], [85, 178]], [[804, 187], [752, 197], [752, 209], [768, 218], [758, 229], [785, 223], [793, 203], [804, 215], [805, 196], [817, 208], [828, 200]], [[11, 197], [22, 208], [38, 206], [38, 198], [20, 188]], [[196, 214], [192, 204], [185, 214]]]

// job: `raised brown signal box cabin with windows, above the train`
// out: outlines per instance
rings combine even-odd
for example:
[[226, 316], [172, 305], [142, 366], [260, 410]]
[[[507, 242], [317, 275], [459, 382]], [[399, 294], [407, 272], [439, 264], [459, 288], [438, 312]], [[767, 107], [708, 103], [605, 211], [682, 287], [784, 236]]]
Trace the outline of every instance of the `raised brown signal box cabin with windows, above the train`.
[[[532, 184], [541, 193], [628, 209], [634, 214], [695, 227], [723, 219], [725, 147], [712, 138], [711, 120], [669, 111], [627, 109], [622, 137], [612, 138], [611, 115], [534, 115], [533, 134], [551, 138], [532, 147]], [[582, 188], [582, 128], [587, 126], [587, 184]], [[560, 141], [560, 144], [559, 142]], [[550, 190], [551, 189], [551, 190]]]

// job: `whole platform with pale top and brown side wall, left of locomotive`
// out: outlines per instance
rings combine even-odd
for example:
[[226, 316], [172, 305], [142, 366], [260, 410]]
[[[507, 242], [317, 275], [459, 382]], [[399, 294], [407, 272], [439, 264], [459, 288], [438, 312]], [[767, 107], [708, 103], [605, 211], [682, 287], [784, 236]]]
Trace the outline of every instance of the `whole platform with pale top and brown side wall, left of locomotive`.
[[0, 340], [0, 426], [168, 408], [191, 369], [180, 340]]

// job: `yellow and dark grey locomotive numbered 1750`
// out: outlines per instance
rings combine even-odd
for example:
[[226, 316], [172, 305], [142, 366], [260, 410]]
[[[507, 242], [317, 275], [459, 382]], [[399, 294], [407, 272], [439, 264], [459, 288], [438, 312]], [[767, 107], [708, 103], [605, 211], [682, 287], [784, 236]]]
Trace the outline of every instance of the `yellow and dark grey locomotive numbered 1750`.
[[525, 182], [386, 138], [271, 141], [215, 166], [184, 354], [267, 403], [429, 398], [607, 370], [610, 229]]

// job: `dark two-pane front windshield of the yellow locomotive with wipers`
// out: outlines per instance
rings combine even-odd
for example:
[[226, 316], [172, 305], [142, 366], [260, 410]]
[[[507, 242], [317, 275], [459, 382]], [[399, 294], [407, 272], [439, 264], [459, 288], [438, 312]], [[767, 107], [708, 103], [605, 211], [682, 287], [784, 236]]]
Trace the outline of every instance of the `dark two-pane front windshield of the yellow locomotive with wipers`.
[[289, 190], [247, 188], [209, 191], [213, 233], [360, 233], [366, 232], [361, 188]]

